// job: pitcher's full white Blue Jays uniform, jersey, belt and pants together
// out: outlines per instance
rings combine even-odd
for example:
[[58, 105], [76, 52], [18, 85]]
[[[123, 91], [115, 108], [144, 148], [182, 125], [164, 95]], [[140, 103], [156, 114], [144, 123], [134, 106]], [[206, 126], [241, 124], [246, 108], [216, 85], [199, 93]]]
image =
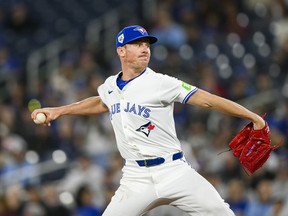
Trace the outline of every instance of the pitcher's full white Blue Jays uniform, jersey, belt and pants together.
[[162, 204], [188, 215], [234, 215], [214, 187], [187, 164], [176, 135], [174, 102], [186, 103], [197, 88], [146, 68], [121, 90], [119, 74], [98, 88], [125, 159], [120, 187], [103, 215], [138, 216]]

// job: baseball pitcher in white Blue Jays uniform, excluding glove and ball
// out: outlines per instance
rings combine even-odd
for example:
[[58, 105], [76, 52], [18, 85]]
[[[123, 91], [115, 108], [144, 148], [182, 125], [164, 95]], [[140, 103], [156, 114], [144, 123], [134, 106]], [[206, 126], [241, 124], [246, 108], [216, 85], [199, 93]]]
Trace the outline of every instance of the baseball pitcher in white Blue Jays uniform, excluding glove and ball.
[[138, 216], [159, 205], [193, 216], [234, 215], [216, 189], [186, 162], [175, 132], [174, 103], [247, 119], [252, 131], [266, 122], [235, 102], [149, 68], [150, 45], [156, 41], [141, 26], [125, 27], [116, 36], [121, 71], [99, 86], [99, 96], [37, 109], [31, 118], [44, 113], [49, 126], [63, 115], [109, 113], [125, 165], [104, 216]]

